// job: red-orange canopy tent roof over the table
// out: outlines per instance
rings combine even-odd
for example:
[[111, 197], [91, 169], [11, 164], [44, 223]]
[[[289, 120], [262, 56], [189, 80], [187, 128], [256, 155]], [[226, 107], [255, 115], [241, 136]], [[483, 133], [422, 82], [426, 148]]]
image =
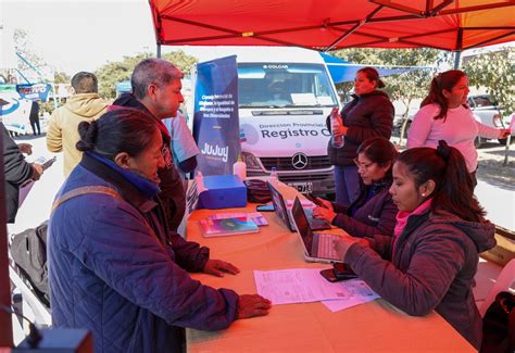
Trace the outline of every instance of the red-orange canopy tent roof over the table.
[[515, 40], [515, 1], [149, 0], [158, 45], [430, 47]]

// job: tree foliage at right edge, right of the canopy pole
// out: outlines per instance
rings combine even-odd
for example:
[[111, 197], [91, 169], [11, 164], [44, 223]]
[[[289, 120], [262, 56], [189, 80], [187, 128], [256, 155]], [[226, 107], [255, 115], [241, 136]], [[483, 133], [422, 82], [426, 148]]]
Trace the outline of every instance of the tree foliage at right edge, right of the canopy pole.
[[470, 86], [487, 88], [503, 115], [515, 111], [515, 49], [488, 52], [465, 61]]

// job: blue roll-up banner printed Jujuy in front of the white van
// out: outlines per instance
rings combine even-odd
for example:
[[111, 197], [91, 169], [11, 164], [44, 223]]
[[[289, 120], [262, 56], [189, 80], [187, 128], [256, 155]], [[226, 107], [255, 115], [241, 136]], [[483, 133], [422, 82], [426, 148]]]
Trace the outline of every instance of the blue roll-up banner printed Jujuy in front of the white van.
[[240, 154], [236, 55], [197, 65], [193, 137], [202, 175], [233, 174]]

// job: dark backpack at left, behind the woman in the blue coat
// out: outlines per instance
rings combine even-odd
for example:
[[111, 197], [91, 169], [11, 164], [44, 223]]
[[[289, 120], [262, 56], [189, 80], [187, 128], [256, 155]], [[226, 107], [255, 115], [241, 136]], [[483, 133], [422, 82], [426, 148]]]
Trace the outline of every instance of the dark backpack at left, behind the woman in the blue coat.
[[39, 301], [50, 307], [47, 269], [47, 222], [16, 234], [11, 242], [11, 257], [28, 280]]

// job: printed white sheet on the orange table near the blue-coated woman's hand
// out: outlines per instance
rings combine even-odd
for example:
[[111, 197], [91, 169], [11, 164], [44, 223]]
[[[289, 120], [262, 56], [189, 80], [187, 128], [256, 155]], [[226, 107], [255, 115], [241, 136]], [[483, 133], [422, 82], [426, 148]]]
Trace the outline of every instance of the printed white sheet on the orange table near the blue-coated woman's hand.
[[310, 303], [351, 299], [359, 291], [343, 282], [330, 283], [321, 276], [322, 268], [254, 270], [258, 293], [273, 304]]

